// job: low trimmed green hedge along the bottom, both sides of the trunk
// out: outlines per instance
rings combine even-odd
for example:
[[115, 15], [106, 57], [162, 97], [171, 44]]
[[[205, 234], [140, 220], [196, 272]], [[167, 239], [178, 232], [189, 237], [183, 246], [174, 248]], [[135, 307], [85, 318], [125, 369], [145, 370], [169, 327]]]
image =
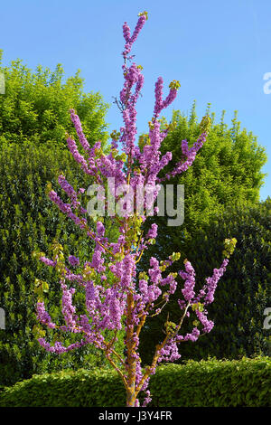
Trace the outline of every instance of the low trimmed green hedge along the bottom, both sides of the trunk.
[[[271, 406], [271, 358], [165, 364], [150, 380], [150, 407]], [[48, 373], [0, 394], [1, 407], [120, 407], [126, 392], [115, 371]]]

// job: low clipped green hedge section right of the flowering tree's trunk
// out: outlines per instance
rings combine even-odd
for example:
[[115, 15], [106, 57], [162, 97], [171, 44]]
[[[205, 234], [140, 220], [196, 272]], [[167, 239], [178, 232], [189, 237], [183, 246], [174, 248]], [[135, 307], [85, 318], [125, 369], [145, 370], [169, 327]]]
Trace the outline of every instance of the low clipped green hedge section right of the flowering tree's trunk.
[[270, 406], [271, 360], [165, 364], [150, 381], [155, 407]]

